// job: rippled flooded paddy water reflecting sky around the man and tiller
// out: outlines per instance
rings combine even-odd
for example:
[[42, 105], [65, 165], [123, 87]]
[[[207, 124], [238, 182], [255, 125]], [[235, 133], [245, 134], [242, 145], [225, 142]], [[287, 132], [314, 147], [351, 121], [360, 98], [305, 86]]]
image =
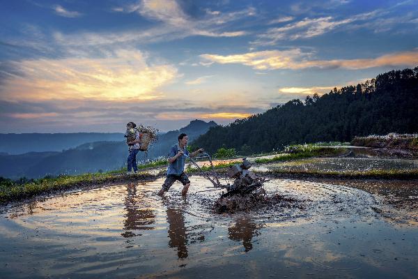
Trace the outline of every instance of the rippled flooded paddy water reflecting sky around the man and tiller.
[[378, 211], [380, 194], [276, 179], [295, 199], [253, 212], [210, 211], [219, 191], [192, 176], [189, 196], [162, 179], [3, 209], [0, 278], [416, 278], [418, 227]]

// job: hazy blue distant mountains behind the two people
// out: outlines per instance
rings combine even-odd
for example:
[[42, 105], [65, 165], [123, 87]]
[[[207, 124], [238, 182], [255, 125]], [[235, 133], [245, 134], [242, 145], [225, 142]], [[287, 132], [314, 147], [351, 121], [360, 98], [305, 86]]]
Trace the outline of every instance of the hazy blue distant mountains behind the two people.
[[[176, 144], [179, 133], [187, 133], [190, 140], [206, 133], [217, 123], [194, 120], [189, 125], [160, 134], [157, 144], [150, 146], [148, 156], [139, 152], [137, 159], [167, 156], [171, 145]], [[0, 176], [11, 179], [39, 178], [45, 175], [82, 174], [118, 169], [126, 165], [127, 145], [123, 134], [118, 141], [86, 142], [61, 152], [30, 152], [19, 155], [0, 154]]]

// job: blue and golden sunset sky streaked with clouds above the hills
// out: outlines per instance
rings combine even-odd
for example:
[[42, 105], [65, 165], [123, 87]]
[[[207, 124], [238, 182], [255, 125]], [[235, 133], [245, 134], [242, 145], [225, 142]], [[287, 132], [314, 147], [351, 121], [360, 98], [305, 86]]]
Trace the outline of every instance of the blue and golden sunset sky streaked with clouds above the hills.
[[4, 0], [0, 24], [0, 133], [227, 125], [418, 66], [418, 0]]

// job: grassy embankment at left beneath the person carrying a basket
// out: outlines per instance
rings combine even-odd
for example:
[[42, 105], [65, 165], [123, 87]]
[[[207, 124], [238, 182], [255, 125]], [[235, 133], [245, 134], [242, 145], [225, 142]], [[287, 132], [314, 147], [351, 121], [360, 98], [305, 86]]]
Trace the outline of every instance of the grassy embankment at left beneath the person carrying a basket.
[[155, 179], [157, 176], [159, 176], [159, 174], [148, 174], [146, 169], [153, 169], [155, 167], [162, 167], [164, 165], [167, 165], [167, 160], [155, 160], [150, 163], [139, 165], [138, 169], [141, 170], [141, 172], [132, 175], [125, 174], [126, 168], [122, 168], [111, 172], [61, 175], [57, 177], [45, 176], [45, 178], [42, 179], [21, 179], [20, 181], [0, 179], [0, 204], [33, 197], [42, 193], [49, 193], [56, 190], [95, 186], [104, 183]]

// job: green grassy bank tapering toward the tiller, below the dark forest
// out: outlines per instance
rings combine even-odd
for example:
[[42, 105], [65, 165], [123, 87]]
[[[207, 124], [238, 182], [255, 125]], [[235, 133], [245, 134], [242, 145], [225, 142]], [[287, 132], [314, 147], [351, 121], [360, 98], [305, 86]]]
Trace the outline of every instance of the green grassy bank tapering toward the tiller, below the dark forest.
[[347, 153], [346, 148], [332, 148], [332, 147], [321, 147], [321, 143], [317, 144], [295, 144], [286, 146], [284, 153], [278, 154], [273, 158], [259, 158], [255, 162], [258, 164], [272, 163], [272, 162], [283, 162], [287, 160], [295, 160], [310, 157], [325, 157], [325, 156], [341, 156]]

